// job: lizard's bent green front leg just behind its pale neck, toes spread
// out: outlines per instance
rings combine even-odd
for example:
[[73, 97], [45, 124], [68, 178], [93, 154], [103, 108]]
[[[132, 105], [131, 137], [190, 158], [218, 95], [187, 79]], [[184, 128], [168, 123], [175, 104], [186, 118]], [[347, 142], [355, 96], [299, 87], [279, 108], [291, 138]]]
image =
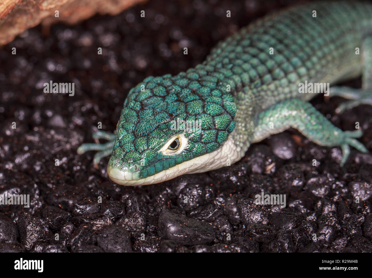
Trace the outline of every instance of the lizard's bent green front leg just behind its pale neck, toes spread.
[[280, 101], [262, 111], [258, 115], [251, 142], [258, 142], [289, 127], [297, 129], [318, 145], [340, 146], [343, 153], [341, 166], [350, 154], [350, 146], [360, 152], [368, 152], [365, 146], [355, 139], [362, 136], [362, 130], [342, 131], [310, 103], [299, 99]]

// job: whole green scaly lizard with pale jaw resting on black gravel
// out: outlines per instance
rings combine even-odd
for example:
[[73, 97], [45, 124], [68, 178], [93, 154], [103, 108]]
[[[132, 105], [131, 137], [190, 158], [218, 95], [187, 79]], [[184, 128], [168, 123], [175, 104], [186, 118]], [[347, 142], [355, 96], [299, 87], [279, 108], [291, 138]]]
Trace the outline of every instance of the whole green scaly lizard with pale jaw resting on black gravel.
[[94, 164], [111, 153], [107, 171], [118, 184], [154, 184], [232, 164], [251, 143], [294, 127], [319, 145], [340, 146], [344, 165], [350, 146], [367, 152], [355, 139], [362, 131], [333, 126], [308, 103], [317, 94], [299, 93], [299, 84], [360, 74], [359, 90], [331, 88], [330, 96], [351, 99], [338, 113], [372, 104], [372, 4], [292, 7], [219, 42], [195, 68], [146, 78], [129, 91], [116, 135], [97, 132], [109, 142], [78, 153], [99, 151]]

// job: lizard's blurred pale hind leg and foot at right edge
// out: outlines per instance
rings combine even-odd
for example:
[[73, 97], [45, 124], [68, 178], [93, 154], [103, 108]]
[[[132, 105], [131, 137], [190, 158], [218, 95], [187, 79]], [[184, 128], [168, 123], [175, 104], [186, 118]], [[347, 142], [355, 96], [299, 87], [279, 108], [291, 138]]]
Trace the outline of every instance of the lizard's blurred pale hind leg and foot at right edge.
[[349, 87], [331, 87], [330, 96], [340, 96], [347, 99], [336, 109], [336, 113], [342, 113], [353, 107], [368, 104], [372, 105], [372, 36], [364, 39], [362, 44], [362, 88], [355, 89]]

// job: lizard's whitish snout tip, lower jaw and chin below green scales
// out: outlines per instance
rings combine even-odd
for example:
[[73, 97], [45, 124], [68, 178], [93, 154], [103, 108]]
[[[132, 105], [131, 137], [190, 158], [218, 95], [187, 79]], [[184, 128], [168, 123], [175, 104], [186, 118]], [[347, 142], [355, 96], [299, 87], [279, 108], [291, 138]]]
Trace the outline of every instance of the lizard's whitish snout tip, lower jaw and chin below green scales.
[[244, 156], [244, 152], [240, 146], [234, 144], [233, 136], [229, 135], [226, 142], [214, 152], [206, 153], [205, 155], [193, 158], [182, 162], [167, 170], [161, 171], [147, 178], [134, 179], [133, 174], [129, 171], [122, 171], [118, 168], [107, 168], [107, 173], [111, 180], [122, 185], [144, 185], [156, 184], [159, 182], [171, 180], [184, 174], [195, 174], [206, 171], [211, 171], [237, 162]]

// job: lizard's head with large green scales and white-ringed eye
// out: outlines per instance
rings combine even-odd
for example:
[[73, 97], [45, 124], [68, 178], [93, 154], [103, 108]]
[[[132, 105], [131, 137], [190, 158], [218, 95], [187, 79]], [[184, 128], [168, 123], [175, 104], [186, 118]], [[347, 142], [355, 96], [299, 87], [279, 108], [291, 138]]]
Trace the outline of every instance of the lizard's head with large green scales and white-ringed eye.
[[225, 143], [235, 127], [233, 98], [194, 81], [186, 73], [148, 77], [131, 89], [107, 168], [113, 181], [154, 184], [226, 165], [221, 152], [229, 151], [220, 147], [233, 148]]

